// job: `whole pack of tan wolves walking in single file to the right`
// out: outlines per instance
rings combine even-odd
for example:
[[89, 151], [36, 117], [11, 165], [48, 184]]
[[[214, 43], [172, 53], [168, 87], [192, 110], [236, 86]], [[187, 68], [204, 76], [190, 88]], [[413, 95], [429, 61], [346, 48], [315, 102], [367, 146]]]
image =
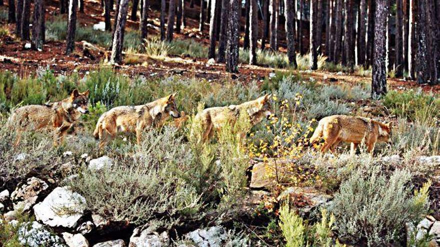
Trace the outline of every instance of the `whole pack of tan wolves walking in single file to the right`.
[[[26, 105], [17, 108], [8, 119], [8, 124], [17, 132], [15, 145], [20, 142], [23, 131], [49, 131], [53, 133], [53, 145], [62, 144], [68, 130], [74, 126], [82, 114], [88, 113], [89, 91], [74, 89], [69, 97], [44, 105]], [[117, 106], [104, 112], [96, 123], [93, 136], [103, 148], [118, 133], [133, 133], [137, 144], [141, 143], [142, 133], [153, 128], [161, 128], [172, 117], [176, 127], [180, 127], [188, 116], [177, 110], [176, 94], [170, 94], [152, 102], [136, 106]], [[233, 125], [244, 115], [251, 126], [264, 118], [273, 116], [271, 95], [265, 94], [257, 99], [239, 105], [211, 107], [198, 112], [194, 121], [201, 125], [200, 136], [203, 142], [209, 141], [225, 124]], [[370, 118], [346, 115], [332, 115], [319, 120], [309, 143], [319, 145], [322, 153], [335, 152], [341, 142], [351, 143], [351, 152], [365, 144], [372, 152], [378, 142], [390, 142], [391, 122], [382, 123]]]

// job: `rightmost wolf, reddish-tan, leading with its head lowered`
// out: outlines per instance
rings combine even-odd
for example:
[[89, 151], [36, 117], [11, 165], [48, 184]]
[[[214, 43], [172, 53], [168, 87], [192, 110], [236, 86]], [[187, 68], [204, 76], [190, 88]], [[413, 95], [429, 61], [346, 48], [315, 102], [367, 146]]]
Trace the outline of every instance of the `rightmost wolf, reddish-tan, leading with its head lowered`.
[[324, 144], [320, 149], [322, 153], [328, 150], [333, 153], [340, 142], [349, 142], [351, 154], [364, 142], [367, 151], [371, 153], [377, 142], [390, 143], [391, 130], [392, 122], [381, 123], [365, 117], [333, 115], [319, 121], [309, 142], [314, 144], [323, 138]]

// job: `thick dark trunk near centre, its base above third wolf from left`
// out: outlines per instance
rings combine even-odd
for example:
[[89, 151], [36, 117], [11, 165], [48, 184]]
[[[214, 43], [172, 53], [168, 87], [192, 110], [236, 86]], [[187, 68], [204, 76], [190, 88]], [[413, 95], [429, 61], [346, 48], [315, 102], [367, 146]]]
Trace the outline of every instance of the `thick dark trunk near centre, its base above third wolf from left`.
[[229, 24], [227, 28], [226, 71], [238, 72], [238, 41], [240, 25], [240, 0], [229, 1]]

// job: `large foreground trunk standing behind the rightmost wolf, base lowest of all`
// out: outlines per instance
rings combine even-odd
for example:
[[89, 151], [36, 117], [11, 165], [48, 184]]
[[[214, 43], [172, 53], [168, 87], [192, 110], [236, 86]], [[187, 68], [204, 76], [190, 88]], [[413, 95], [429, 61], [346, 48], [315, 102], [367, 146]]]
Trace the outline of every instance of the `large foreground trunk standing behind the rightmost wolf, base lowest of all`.
[[386, 94], [385, 42], [388, 16], [388, 0], [375, 0], [374, 62], [372, 69], [371, 97]]

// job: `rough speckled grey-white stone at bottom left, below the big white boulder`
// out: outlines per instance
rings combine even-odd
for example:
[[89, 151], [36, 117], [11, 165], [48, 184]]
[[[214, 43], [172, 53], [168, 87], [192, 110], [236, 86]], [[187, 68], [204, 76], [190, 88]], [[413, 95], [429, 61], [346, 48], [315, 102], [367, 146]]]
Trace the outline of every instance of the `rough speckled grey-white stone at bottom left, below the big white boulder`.
[[[18, 222], [15, 221], [15, 224]], [[23, 223], [18, 228], [18, 241], [21, 245], [27, 247], [65, 247], [61, 238], [49, 232], [38, 222]]]

